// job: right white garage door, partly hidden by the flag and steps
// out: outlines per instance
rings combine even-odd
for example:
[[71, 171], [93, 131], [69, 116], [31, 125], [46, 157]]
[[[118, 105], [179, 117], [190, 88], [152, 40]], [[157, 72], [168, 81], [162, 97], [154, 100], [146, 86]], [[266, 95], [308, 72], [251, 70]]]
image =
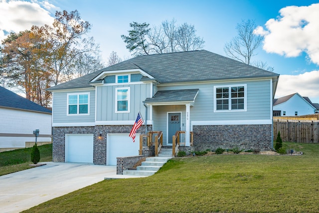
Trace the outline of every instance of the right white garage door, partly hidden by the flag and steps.
[[107, 135], [107, 165], [116, 165], [117, 157], [137, 156], [140, 149], [140, 134], [136, 134], [135, 142], [129, 134]]

